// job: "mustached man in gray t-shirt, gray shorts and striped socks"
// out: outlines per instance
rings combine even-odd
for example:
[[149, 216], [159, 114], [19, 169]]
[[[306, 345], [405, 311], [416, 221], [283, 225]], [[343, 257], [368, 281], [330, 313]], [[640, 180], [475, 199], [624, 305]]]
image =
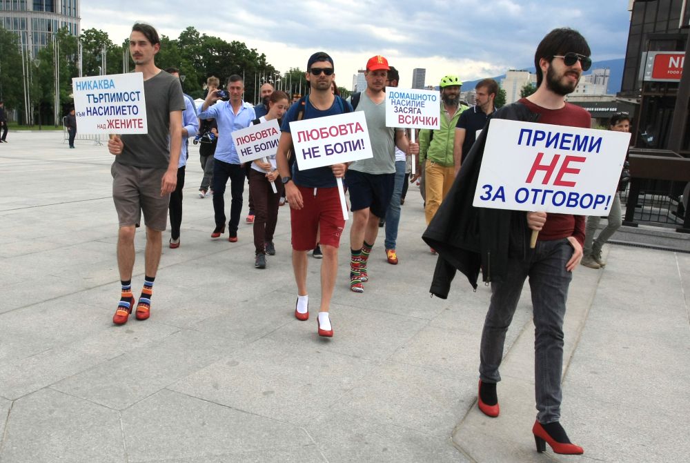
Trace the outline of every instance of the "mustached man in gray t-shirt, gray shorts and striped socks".
[[[112, 200], [119, 220], [117, 267], [122, 293], [112, 322], [125, 324], [132, 313], [132, 268], [134, 237], [141, 213], [146, 224], [144, 289], [137, 304], [137, 319], [150, 315], [153, 282], [161, 259], [161, 237], [168, 223], [168, 201], [177, 185], [177, 164], [182, 141], [184, 97], [179, 79], [156, 67], [154, 57], [161, 44], [153, 26], [135, 23], [129, 39], [135, 72], [144, 74], [146, 135], [115, 135], [108, 151], [115, 155], [112, 173]], [[168, 140], [170, 144], [168, 146]]]

